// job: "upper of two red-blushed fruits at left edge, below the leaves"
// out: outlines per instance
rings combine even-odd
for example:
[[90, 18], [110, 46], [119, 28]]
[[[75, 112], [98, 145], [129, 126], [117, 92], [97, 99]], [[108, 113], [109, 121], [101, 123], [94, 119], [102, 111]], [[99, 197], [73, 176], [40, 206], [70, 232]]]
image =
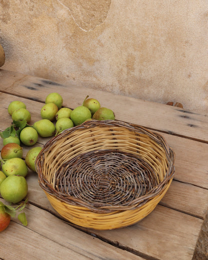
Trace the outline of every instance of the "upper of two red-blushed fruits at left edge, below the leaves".
[[22, 158], [22, 147], [15, 142], [7, 143], [2, 147], [0, 156], [6, 160], [14, 157]]

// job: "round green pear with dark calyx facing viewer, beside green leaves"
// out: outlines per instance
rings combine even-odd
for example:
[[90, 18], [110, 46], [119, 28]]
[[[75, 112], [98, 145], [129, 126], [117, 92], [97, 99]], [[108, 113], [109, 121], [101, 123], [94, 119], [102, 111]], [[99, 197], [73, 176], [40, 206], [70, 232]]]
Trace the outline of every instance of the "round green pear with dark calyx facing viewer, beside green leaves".
[[34, 145], [37, 139], [38, 133], [33, 127], [27, 126], [20, 131], [20, 140], [24, 145]]

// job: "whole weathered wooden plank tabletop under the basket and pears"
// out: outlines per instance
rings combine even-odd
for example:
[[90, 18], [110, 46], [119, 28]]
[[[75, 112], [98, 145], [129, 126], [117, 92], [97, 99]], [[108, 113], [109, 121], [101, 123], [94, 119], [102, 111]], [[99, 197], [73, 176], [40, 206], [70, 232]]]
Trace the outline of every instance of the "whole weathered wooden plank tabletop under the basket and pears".
[[[156, 208], [140, 222], [98, 231], [63, 221], [41, 190], [37, 174], [29, 171], [28, 226], [12, 220], [2, 233], [5, 237], [0, 235], [0, 258], [191, 259], [208, 206], [207, 115], [0, 69], [0, 130], [11, 122], [7, 113], [11, 101], [26, 104], [33, 124], [41, 119], [40, 108], [53, 91], [63, 96], [63, 106], [74, 108], [89, 94], [102, 106], [113, 109], [116, 119], [159, 132], [175, 151], [174, 179]], [[47, 140], [39, 137], [35, 145], [41, 146]], [[29, 148], [23, 145], [24, 157]]]

